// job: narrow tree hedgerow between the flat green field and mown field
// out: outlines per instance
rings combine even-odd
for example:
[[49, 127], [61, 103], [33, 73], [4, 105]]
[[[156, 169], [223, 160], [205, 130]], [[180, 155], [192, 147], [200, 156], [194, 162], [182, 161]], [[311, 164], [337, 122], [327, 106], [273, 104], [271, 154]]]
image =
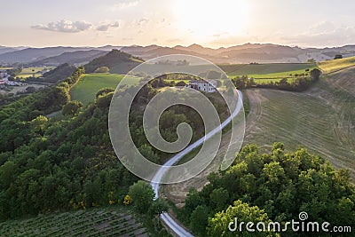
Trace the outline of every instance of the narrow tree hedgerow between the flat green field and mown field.
[[310, 76], [296, 76], [296, 78], [293, 78], [291, 82], [288, 82], [287, 78], [283, 78], [280, 82], [275, 83], [255, 83], [252, 78], [248, 79], [247, 75], [236, 76], [232, 79], [232, 81], [238, 89], [254, 87], [279, 89], [283, 91], [305, 91], [312, 85], [312, 83], [319, 80], [320, 75], [320, 70], [314, 68], [310, 72]]

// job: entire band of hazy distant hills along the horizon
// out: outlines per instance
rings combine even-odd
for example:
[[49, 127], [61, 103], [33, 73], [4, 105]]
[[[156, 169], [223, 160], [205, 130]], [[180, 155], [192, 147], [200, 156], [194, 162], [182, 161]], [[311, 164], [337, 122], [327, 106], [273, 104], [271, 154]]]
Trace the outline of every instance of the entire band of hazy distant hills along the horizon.
[[[47, 48], [11, 48], [0, 47], [0, 63], [30, 63], [34, 66], [56, 66], [61, 63], [84, 64], [105, 51], [117, 49], [142, 59], [153, 59], [167, 54], [191, 54], [214, 63], [272, 63], [272, 62], [306, 62], [333, 59], [336, 54], [343, 57], [355, 55], [355, 45], [334, 48], [299, 48], [272, 43], [245, 43], [228, 48], [206, 48], [199, 44], [174, 47], [149, 46], [112, 46], [102, 47], [47, 47]], [[98, 53], [97, 55], [95, 55]]]

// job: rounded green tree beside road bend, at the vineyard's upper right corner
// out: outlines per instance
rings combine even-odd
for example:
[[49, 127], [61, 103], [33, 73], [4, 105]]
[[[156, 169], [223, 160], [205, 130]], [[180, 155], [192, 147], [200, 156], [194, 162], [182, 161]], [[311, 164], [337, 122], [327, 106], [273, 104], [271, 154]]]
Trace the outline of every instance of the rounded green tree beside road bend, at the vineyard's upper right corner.
[[128, 194], [132, 198], [135, 209], [140, 213], [147, 213], [154, 201], [154, 190], [152, 186], [142, 180], [130, 186]]

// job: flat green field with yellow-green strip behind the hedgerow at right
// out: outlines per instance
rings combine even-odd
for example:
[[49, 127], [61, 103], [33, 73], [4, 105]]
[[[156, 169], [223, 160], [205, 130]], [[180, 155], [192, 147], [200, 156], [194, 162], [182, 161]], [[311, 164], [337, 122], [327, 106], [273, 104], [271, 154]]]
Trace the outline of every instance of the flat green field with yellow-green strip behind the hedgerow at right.
[[254, 78], [284, 78], [304, 74], [306, 69], [317, 67], [312, 63], [270, 63], [218, 65], [229, 76], [248, 75]]

